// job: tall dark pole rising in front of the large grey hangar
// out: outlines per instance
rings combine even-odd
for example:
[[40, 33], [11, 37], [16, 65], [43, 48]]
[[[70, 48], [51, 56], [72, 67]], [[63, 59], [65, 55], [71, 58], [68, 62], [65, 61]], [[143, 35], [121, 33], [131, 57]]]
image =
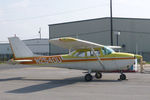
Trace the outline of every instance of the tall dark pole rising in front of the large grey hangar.
[[113, 46], [113, 18], [112, 18], [112, 0], [110, 0], [110, 40]]

